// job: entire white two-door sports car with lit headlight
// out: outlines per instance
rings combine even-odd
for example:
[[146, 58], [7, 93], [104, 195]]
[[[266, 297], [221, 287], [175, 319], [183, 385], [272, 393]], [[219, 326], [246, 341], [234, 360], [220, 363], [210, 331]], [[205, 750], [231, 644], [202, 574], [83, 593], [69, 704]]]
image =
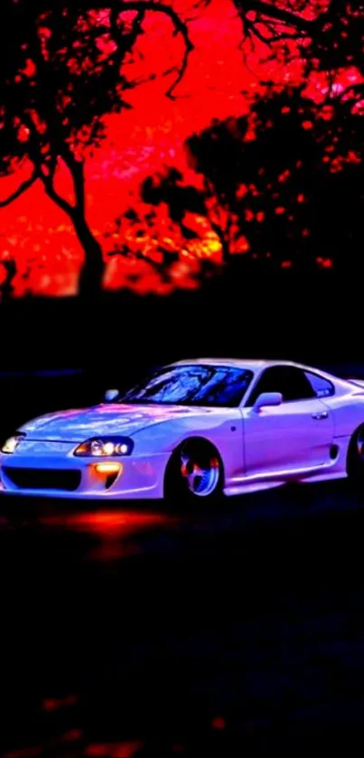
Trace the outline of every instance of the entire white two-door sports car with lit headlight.
[[4, 495], [79, 500], [364, 484], [364, 381], [286, 361], [182, 360], [121, 397], [24, 424], [0, 475]]

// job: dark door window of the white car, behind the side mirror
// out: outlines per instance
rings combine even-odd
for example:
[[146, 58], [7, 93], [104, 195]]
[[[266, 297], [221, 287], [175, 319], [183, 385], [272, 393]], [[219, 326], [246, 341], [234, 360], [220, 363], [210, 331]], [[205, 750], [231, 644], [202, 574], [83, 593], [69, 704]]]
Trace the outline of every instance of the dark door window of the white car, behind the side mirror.
[[271, 366], [266, 369], [248, 398], [247, 406], [253, 406], [262, 392], [280, 392], [285, 403], [316, 397], [304, 371], [294, 366]]

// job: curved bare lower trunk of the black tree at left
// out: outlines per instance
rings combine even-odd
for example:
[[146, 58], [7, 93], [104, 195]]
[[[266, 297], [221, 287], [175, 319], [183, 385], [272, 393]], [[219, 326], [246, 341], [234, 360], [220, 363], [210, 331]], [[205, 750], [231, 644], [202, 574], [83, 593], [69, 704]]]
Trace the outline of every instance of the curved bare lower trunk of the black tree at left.
[[102, 291], [105, 262], [102, 248], [95, 239], [82, 213], [72, 214], [73, 226], [84, 251], [84, 263], [79, 275], [79, 295], [92, 299]]

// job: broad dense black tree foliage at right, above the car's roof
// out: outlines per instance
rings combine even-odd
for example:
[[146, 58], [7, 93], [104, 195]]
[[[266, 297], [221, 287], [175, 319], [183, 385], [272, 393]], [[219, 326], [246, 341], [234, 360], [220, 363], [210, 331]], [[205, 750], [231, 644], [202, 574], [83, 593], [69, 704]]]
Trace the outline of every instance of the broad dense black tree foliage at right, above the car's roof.
[[361, 270], [361, 105], [358, 93], [317, 104], [303, 88], [271, 91], [248, 116], [187, 140], [200, 190], [172, 168], [145, 180], [143, 199], [165, 203], [182, 234], [191, 213], [209, 220], [225, 261], [242, 253], [267, 270]]

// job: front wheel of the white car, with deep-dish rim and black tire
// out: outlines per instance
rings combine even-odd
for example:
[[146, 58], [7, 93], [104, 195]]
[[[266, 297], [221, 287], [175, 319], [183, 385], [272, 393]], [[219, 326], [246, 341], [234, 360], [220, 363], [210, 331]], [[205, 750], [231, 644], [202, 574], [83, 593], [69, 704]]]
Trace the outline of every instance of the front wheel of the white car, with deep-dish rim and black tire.
[[217, 502], [223, 491], [223, 466], [218, 451], [200, 438], [188, 439], [173, 453], [164, 480], [169, 502]]

